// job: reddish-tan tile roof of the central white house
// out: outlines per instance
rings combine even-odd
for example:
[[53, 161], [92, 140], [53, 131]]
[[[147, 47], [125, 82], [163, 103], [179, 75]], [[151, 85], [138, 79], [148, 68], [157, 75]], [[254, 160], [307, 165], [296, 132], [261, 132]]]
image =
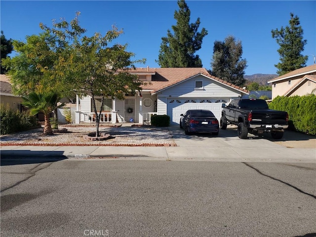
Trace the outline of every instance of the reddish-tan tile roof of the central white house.
[[[244, 93], [249, 93], [248, 90], [245, 90], [240, 86], [234, 85], [225, 80], [210, 75], [205, 68], [156, 68], [154, 70], [148, 70], [150, 72], [156, 70], [156, 74], [152, 76], [152, 81], [147, 82], [147, 84], [143, 85], [142, 88], [143, 91], [151, 91], [151, 93], [156, 93], [160, 90], [166, 89], [179, 82], [196, 77], [198, 75], [203, 75], [210, 79], [217, 80], [223, 84], [226, 84], [234, 89], [240, 90]], [[138, 72], [138, 69], [136, 69], [135, 72]]]

